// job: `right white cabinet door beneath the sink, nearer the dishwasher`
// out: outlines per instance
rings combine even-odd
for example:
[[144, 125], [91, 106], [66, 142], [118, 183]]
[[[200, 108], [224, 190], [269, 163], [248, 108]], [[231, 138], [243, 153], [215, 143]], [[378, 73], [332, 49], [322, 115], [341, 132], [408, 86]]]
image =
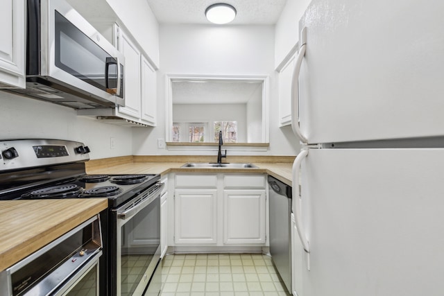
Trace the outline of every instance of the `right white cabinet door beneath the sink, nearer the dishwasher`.
[[223, 191], [223, 243], [265, 243], [265, 191]]

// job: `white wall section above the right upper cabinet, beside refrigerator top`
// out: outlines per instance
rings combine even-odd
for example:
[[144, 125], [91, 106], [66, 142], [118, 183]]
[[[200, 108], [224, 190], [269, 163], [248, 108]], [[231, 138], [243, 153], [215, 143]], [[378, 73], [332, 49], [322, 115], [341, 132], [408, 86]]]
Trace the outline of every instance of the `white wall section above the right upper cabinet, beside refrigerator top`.
[[275, 26], [275, 68], [281, 64], [299, 41], [299, 19], [311, 0], [287, 0]]

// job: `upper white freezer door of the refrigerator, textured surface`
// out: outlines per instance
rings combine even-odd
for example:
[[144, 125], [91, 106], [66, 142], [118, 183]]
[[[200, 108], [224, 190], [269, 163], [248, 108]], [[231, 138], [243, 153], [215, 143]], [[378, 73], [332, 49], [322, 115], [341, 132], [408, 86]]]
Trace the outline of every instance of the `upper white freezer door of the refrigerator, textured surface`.
[[444, 1], [311, 1], [299, 24], [308, 142], [443, 136], [443, 11]]

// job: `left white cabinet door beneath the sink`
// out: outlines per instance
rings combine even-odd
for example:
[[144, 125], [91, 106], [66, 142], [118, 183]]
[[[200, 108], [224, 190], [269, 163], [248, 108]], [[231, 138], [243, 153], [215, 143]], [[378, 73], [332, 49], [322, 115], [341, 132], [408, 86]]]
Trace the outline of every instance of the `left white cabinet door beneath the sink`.
[[175, 191], [175, 243], [217, 242], [216, 198], [216, 190]]

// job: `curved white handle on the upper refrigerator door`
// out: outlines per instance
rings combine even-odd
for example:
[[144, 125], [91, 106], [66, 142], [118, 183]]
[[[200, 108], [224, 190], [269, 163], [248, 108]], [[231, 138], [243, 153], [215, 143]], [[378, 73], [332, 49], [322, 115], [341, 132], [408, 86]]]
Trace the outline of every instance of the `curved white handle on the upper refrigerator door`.
[[299, 126], [299, 73], [302, 59], [305, 55], [305, 46], [307, 44], [307, 28], [302, 28], [300, 37], [300, 49], [296, 57], [296, 66], [293, 70], [293, 80], [291, 81], [291, 128], [294, 134], [299, 137], [302, 143], [308, 143], [307, 138], [300, 132]]

